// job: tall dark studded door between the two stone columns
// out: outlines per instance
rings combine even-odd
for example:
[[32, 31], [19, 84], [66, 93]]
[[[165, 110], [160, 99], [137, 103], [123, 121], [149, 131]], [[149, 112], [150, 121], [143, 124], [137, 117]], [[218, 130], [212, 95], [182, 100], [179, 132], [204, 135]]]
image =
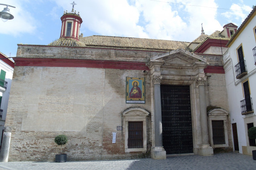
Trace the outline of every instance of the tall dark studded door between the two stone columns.
[[161, 111], [166, 154], [193, 153], [189, 86], [161, 85]]

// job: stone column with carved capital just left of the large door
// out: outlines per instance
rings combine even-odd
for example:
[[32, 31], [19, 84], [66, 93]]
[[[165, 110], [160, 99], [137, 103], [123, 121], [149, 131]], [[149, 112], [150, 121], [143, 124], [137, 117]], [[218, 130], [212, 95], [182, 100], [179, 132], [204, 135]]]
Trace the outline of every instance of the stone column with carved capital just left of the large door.
[[153, 159], [166, 159], [166, 151], [162, 140], [162, 113], [161, 113], [161, 91], [160, 82], [162, 76], [152, 76], [154, 85], [154, 119], [155, 119], [155, 147], [152, 147]]

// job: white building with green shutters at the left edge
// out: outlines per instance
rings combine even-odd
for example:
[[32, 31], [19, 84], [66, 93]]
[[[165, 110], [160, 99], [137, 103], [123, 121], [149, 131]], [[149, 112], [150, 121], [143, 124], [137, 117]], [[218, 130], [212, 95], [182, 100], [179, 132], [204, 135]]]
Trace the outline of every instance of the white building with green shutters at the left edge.
[[0, 52], [0, 135], [1, 145], [7, 113], [9, 94], [13, 79], [14, 62]]

